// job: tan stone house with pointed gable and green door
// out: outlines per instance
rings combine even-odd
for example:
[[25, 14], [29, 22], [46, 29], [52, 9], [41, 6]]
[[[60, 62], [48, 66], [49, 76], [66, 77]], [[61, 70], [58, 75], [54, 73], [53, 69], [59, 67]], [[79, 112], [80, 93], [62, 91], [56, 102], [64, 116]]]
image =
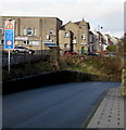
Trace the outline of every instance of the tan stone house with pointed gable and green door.
[[89, 46], [89, 23], [86, 21], [80, 22], [68, 22], [62, 29], [65, 31], [72, 32], [72, 51], [75, 51], [79, 54], [88, 53], [88, 46]]

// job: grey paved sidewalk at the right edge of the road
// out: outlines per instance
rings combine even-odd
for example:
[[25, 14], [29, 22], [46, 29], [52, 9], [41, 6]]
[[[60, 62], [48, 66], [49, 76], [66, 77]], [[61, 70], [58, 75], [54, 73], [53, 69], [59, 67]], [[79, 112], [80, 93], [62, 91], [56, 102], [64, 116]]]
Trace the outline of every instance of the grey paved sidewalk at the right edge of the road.
[[121, 88], [109, 90], [87, 128], [124, 128], [124, 98], [121, 96]]

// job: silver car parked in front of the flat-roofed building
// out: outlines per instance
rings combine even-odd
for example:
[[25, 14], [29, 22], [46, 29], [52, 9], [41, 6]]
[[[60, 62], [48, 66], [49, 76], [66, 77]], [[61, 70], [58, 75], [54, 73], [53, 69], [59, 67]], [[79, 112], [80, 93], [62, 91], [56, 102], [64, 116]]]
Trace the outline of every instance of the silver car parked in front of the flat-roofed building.
[[13, 52], [15, 53], [28, 53], [28, 54], [34, 54], [35, 51], [25, 47], [15, 47], [13, 49]]

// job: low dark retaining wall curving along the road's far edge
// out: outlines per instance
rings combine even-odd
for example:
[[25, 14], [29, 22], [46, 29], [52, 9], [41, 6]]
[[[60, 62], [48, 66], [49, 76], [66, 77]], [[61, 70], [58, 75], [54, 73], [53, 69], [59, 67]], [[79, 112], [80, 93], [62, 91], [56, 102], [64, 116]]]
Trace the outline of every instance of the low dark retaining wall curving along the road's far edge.
[[3, 81], [2, 94], [9, 94], [28, 89], [36, 89], [49, 84], [80, 81], [108, 81], [108, 79], [96, 75], [78, 73], [73, 70], [42, 73], [39, 75]]

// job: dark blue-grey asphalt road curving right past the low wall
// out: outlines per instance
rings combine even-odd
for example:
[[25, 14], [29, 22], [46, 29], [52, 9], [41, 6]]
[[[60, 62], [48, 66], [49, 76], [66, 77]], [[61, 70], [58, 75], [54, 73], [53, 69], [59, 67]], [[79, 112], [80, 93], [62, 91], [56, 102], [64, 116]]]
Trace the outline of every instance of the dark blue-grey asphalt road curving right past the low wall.
[[118, 86], [64, 83], [3, 95], [3, 128], [79, 128], [101, 95]]

